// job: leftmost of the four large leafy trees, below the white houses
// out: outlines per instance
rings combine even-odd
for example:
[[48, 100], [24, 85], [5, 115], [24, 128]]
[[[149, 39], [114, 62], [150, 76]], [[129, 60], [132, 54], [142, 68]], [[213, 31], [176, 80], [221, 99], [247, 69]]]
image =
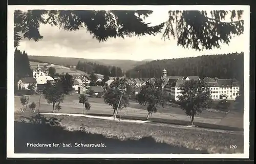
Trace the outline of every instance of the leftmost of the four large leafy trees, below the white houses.
[[46, 87], [42, 93], [47, 103], [52, 104], [52, 112], [54, 111], [55, 104], [63, 102], [64, 100], [65, 93], [63, 93], [61, 82], [51, 84], [50, 81], [47, 81]]

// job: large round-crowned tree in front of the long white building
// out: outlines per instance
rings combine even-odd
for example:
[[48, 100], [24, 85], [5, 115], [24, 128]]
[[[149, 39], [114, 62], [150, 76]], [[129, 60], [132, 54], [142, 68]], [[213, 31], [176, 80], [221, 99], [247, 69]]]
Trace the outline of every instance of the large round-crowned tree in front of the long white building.
[[179, 104], [185, 114], [190, 117], [190, 124], [194, 124], [194, 117], [207, 109], [211, 101], [210, 89], [204, 80], [185, 81], [181, 86], [181, 95], [178, 96]]

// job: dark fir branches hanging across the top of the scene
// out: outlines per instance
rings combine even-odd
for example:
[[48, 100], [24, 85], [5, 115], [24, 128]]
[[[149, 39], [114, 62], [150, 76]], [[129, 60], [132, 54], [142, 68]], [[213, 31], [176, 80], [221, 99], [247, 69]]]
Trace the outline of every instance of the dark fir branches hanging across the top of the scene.
[[[157, 26], [146, 24], [150, 10], [95, 11], [95, 10], [28, 10], [14, 12], [14, 46], [22, 38], [39, 41], [40, 24], [50, 24], [67, 31], [86, 28], [93, 38], [106, 41], [125, 36], [156, 35], [165, 27], [163, 38], [178, 39], [178, 45], [196, 50], [220, 48], [220, 42], [229, 43], [233, 35], [243, 33], [243, 11], [169, 11], [169, 18]], [[228, 13], [231, 16], [228, 17]], [[231, 18], [227, 22], [225, 18]], [[237, 18], [237, 21], [233, 21]]]

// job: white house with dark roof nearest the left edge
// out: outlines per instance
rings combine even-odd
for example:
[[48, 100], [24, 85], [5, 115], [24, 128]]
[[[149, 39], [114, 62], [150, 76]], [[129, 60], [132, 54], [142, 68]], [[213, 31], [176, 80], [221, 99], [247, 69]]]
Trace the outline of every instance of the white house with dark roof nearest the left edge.
[[32, 77], [25, 77], [21, 78], [18, 81], [18, 88], [17, 89], [27, 89], [27, 90], [36, 90], [37, 89], [37, 83], [36, 79]]

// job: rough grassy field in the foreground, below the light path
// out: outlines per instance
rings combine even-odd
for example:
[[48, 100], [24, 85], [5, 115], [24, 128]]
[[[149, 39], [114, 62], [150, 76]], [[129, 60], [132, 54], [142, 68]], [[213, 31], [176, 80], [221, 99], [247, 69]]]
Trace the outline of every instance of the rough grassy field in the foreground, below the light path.
[[[32, 118], [33, 116], [33, 114], [28, 113], [15, 113], [15, 120], [17, 122], [29, 122], [28, 118]], [[102, 134], [106, 138], [138, 140], [151, 136], [156, 143], [165, 143], [175, 147], [207, 150], [208, 153], [243, 153], [242, 132], [217, 132], [194, 127], [182, 128], [166, 124], [145, 123], [142, 125], [139, 123], [106, 121], [75, 116], [46, 115], [47, 120], [51, 117], [57, 118], [59, 125], [66, 130], [80, 130], [91, 134]], [[234, 143], [236, 143], [238, 148], [236, 150], [229, 149], [230, 145]]]

